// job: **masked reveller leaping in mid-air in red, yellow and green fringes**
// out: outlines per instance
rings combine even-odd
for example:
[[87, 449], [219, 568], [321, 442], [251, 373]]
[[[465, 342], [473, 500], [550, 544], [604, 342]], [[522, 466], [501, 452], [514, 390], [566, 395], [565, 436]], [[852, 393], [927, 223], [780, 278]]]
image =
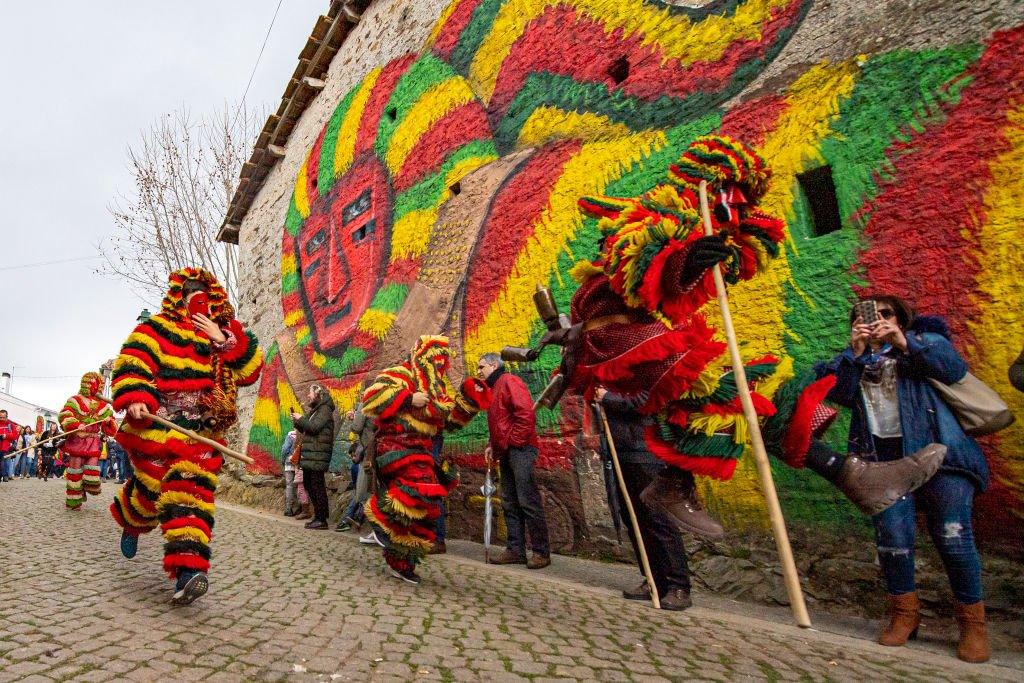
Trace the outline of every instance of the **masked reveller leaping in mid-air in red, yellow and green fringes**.
[[[652, 418], [647, 447], [670, 467], [641, 498], [683, 529], [719, 535], [699, 509], [693, 475], [729, 479], [748, 441], [748, 426], [726, 344], [699, 309], [715, 296], [712, 268], [736, 284], [764, 272], [779, 253], [782, 219], [761, 211], [769, 169], [751, 147], [729, 137], [694, 140], [671, 167], [670, 183], [639, 198], [584, 198], [604, 234], [599, 258], [573, 269], [581, 283], [571, 302], [561, 373], [567, 387], [593, 399], [597, 387], [622, 396], [647, 392], [637, 407]], [[698, 186], [709, 182], [713, 233], [706, 237]], [[769, 451], [794, 467], [831, 481], [867, 514], [922, 485], [944, 449], [931, 444], [892, 463], [868, 463], [817, 440], [836, 416], [822, 401], [836, 379], [765, 354], [746, 361]], [[774, 402], [772, 401], [774, 397]]]

